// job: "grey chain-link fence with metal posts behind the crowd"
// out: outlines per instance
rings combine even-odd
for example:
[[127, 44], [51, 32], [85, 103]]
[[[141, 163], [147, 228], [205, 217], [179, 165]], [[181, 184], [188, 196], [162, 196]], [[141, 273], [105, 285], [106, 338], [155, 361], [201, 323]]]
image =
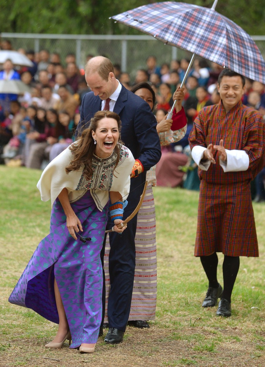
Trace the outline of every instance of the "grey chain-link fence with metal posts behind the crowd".
[[[265, 36], [252, 38], [265, 58]], [[170, 63], [172, 59], [191, 57], [190, 52], [164, 45], [150, 36], [1, 33], [1, 39], [10, 40], [15, 50], [57, 52], [62, 63], [68, 53], [73, 53], [79, 68], [84, 67], [88, 54], [104, 55], [114, 64], [120, 64], [121, 70], [130, 73], [131, 77], [135, 76], [137, 69], [146, 68], [145, 61], [150, 55], [156, 56], [158, 65]]]

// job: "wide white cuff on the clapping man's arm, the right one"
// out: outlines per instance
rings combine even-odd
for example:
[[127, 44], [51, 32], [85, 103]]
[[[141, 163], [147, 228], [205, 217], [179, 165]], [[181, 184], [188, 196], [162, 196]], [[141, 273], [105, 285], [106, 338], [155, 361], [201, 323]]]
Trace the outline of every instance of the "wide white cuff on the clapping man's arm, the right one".
[[246, 171], [249, 167], [249, 156], [245, 150], [228, 150], [226, 151], [226, 162], [219, 159], [220, 166], [224, 172]]

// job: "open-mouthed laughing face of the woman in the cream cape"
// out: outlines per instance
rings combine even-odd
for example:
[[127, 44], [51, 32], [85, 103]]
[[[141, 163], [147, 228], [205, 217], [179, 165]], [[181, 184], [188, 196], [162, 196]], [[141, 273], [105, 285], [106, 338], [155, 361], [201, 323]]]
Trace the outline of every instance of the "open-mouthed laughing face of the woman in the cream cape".
[[92, 137], [97, 141], [95, 155], [99, 158], [109, 157], [119, 140], [119, 127], [115, 119], [104, 117], [98, 121], [95, 131], [92, 131]]

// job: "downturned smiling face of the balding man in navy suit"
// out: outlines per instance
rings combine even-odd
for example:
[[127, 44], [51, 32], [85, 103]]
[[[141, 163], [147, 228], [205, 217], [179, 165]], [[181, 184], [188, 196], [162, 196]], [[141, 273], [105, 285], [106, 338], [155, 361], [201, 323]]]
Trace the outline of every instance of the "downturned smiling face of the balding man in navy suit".
[[86, 81], [94, 95], [98, 95], [101, 100], [109, 98], [118, 86], [118, 81], [112, 72], [109, 73], [108, 80], [102, 79], [97, 72], [86, 73]]

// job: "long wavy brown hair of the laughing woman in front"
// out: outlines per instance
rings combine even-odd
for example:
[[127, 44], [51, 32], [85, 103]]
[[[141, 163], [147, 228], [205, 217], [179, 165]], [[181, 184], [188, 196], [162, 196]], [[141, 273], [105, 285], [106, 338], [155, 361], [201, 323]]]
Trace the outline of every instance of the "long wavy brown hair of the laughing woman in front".
[[[92, 131], [96, 131], [98, 127], [99, 121], [104, 119], [105, 117], [109, 119], [114, 119], [117, 121], [118, 129], [119, 129], [119, 143], [120, 141], [120, 130], [121, 130], [121, 120], [119, 115], [115, 112], [110, 111], [98, 111], [95, 113], [94, 117], [90, 120], [90, 125], [88, 128], [84, 129], [81, 137], [77, 141], [76, 144], [70, 145], [70, 149], [72, 150], [73, 160], [66, 166], [65, 171], [69, 173], [71, 171], [77, 171], [81, 166], [84, 166], [84, 175], [86, 179], [90, 179], [93, 171], [92, 171], [92, 157], [96, 149], [96, 145], [94, 144], [94, 139], [92, 138]], [[116, 144], [114, 150], [117, 153], [117, 159], [115, 163], [115, 168], [117, 167], [120, 159], [120, 145]], [[114, 171], [113, 170], [113, 171]]]

